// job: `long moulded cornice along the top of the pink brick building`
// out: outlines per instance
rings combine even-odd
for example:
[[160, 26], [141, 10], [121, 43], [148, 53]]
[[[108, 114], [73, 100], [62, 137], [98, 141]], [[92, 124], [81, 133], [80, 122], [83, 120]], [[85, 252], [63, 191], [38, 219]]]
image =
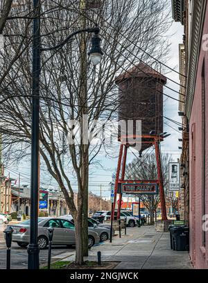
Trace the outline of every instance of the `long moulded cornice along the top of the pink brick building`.
[[193, 1], [191, 38], [189, 42], [189, 66], [187, 78], [187, 96], [185, 101], [185, 113], [187, 118], [191, 117], [191, 108], [196, 86], [196, 74], [198, 71], [198, 60], [202, 42], [202, 32], [205, 22], [205, 12], [207, 9], [207, 0]]

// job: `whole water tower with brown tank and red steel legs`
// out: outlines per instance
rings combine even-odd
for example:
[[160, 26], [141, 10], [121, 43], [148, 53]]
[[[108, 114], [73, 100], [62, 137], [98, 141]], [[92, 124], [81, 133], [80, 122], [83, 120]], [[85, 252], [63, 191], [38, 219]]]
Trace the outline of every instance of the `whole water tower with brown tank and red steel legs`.
[[[155, 146], [155, 156], [157, 160], [157, 180], [155, 184], [159, 187], [159, 195], [162, 206], [162, 219], [166, 220], [166, 207], [164, 199], [164, 185], [162, 178], [162, 166], [159, 143], [163, 140], [163, 87], [166, 84], [166, 77], [160, 71], [152, 67], [139, 63], [125, 73], [118, 76], [115, 80], [119, 87], [119, 121], [133, 121], [133, 132], [129, 134], [128, 126], [126, 132], [119, 131], [119, 141], [121, 141], [119, 151], [119, 161], [116, 171], [114, 187], [113, 213], [116, 206], [116, 197], [119, 194], [118, 214], [121, 210], [122, 184], [150, 184], [150, 181], [143, 180], [124, 180], [125, 163], [128, 148], [132, 146], [130, 140], [138, 138], [136, 141], [139, 148], [139, 156], [150, 146]], [[141, 132], [136, 132], [136, 121], [141, 121]], [[126, 123], [127, 125], [127, 123]], [[136, 139], [137, 140], [137, 139]], [[139, 144], [139, 146], [138, 146]], [[121, 169], [122, 165], [122, 169]], [[121, 178], [120, 178], [121, 175]], [[138, 185], [139, 186], [139, 185]]]

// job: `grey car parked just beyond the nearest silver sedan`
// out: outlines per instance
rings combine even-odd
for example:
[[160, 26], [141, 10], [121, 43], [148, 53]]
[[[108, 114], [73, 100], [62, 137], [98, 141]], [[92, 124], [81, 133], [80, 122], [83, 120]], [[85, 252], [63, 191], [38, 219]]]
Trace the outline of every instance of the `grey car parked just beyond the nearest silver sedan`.
[[[64, 218], [64, 216], [61, 216], [60, 218]], [[68, 217], [65, 216], [65, 218], [69, 219], [69, 221], [71, 221], [71, 223], [73, 222], [73, 218], [71, 218], [71, 215], [69, 215]], [[96, 223], [93, 223], [93, 221], [96, 220], [92, 220], [92, 218], [88, 218], [88, 228], [90, 230], [94, 230], [95, 232], [98, 233], [99, 237], [100, 237], [100, 241], [107, 241], [108, 239], [110, 239], [110, 225], [107, 225], [107, 228], [105, 227], [105, 224], [101, 224], [98, 221], [96, 221]], [[114, 236], [115, 234], [115, 230], [112, 230], [112, 236]]]

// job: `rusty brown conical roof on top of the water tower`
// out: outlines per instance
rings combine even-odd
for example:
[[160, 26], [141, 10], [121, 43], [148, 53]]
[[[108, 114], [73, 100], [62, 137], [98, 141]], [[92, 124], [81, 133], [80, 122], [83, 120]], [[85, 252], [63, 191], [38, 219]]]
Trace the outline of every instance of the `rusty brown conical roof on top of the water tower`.
[[158, 80], [161, 80], [164, 85], [166, 84], [166, 76], [163, 76], [159, 71], [156, 71], [152, 67], [140, 62], [139, 64], [135, 65], [134, 67], [128, 69], [123, 74], [119, 75], [115, 79], [116, 85], [122, 83], [123, 80], [128, 78], [148, 78], [153, 77]]

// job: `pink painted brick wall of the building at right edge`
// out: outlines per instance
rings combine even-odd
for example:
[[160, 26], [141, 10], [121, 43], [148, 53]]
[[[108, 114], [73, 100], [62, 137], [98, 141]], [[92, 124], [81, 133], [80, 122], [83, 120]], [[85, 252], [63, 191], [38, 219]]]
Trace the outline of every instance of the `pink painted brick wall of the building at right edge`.
[[[207, 15], [205, 17], [204, 31], [202, 34], [208, 34], [208, 5]], [[208, 232], [206, 232], [205, 247], [203, 247], [202, 231], [202, 65], [205, 59], [205, 213], [208, 214], [208, 51], [200, 49], [200, 59], [198, 61], [198, 71], [196, 77], [196, 87], [191, 109], [191, 119], [189, 123], [189, 141], [190, 141], [190, 255], [196, 268], [208, 268]]]

